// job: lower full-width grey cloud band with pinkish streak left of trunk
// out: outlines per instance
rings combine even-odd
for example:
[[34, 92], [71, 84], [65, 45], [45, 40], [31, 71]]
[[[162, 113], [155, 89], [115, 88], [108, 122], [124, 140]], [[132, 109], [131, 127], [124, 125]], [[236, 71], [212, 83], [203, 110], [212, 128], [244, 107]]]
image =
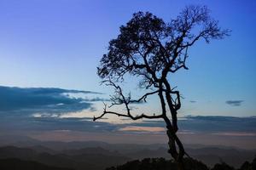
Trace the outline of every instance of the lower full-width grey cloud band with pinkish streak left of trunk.
[[[20, 113], [21, 115], [23, 112]], [[46, 114], [46, 113], [45, 113]], [[92, 121], [93, 114], [67, 113], [62, 116], [49, 114], [37, 116], [11, 116], [0, 119], [0, 129], [28, 131], [70, 130], [90, 133], [165, 133], [166, 124], [161, 120], [113, 123]], [[80, 115], [82, 114], [82, 115]], [[79, 117], [80, 116], [80, 117]], [[208, 133], [238, 136], [256, 134], [256, 117], [186, 116], [178, 121], [179, 133]], [[240, 136], [242, 136], [240, 135]]]

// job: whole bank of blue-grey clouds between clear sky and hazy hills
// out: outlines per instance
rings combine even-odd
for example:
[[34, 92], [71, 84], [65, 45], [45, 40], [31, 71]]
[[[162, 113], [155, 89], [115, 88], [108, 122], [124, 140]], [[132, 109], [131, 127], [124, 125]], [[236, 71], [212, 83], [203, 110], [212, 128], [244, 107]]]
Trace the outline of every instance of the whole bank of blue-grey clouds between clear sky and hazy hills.
[[[120, 118], [113, 123], [92, 121], [96, 102], [108, 101], [102, 94], [61, 88], [0, 87], [0, 129], [2, 132], [79, 132], [165, 135], [161, 119], [129, 122]], [[228, 105], [241, 105], [243, 100], [229, 100]], [[193, 102], [192, 102], [193, 103]], [[256, 135], [256, 117], [184, 116], [179, 119], [180, 135], [207, 133], [218, 136]]]

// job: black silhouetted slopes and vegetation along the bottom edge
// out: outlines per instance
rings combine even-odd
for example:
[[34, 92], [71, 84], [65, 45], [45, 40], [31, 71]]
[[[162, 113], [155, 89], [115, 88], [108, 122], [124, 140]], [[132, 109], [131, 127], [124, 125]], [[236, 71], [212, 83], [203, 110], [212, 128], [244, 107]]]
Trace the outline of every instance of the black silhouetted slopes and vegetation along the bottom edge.
[[[92, 162], [93, 163], [93, 162]], [[201, 161], [195, 159], [183, 159], [185, 170], [236, 170], [225, 162], [217, 163], [214, 167], [207, 167]], [[1, 170], [74, 170], [77, 168], [69, 167], [52, 167], [39, 163], [37, 161], [24, 161], [17, 158], [0, 159]], [[88, 169], [84, 167], [84, 169]], [[90, 168], [89, 168], [90, 169]], [[165, 158], [145, 158], [142, 161], [128, 161], [124, 165], [117, 167], [108, 167], [106, 170], [177, 170], [177, 163], [174, 161], [167, 161]], [[237, 170], [256, 170], [256, 157], [253, 162], [245, 161]]]

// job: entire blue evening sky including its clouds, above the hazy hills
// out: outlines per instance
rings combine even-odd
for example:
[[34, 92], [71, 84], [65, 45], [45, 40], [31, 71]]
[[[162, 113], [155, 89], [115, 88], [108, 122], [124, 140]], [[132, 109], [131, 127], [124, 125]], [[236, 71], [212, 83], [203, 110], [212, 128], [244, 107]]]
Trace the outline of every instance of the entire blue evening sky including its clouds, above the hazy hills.
[[[189, 4], [207, 5], [219, 26], [231, 33], [224, 40], [196, 43], [189, 49], [189, 71], [170, 77], [172, 87], [177, 86], [183, 95], [179, 111], [183, 133], [205, 133], [202, 129], [207, 129], [207, 133], [230, 135], [232, 131], [256, 140], [253, 0], [0, 0], [0, 113], [4, 117], [0, 127], [6, 132], [15, 127], [44, 133], [84, 132], [86, 127], [86, 133], [101, 133], [103, 128], [121, 133], [140, 126], [145, 133], [162, 132], [158, 122], [125, 124], [115, 117], [93, 124], [90, 118], [102, 112], [102, 101], [108, 102], [113, 92], [100, 86], [96, 67], [108, 52], [108, 42], [118, 36], [119, 26], [133, 13], [149, 11], [168, 22]], [[136, 82], [125, 81], [123, 85], [130, 87], [125, 90], [137, 94]], [[154, 101], [134, 108], [159, 111]], [[218, 116], [226, 119], [220, 123]], [[204, 127], [208, 122], [221, 128]], [[230, 127], [238, 122], [245, 124], [233, 132]]]

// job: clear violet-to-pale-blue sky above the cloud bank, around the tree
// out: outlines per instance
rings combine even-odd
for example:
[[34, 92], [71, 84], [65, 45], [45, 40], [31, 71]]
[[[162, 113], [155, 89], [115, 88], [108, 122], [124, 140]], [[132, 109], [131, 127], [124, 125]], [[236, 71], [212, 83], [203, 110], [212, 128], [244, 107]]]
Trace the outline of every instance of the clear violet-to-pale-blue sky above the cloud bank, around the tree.
[[[169, 21], [189, 4], [207, 5], [232, 32], [221, 41], [196, 43], [189, 71], [170, 77], [184, 97], [180, 116], [256, 116], [254, 0], [0, 0], [0, 86], [85, 90], [105, 94], [91, 99], [107, 99], [111, 90], [99, 85], [96, 66], [119, 26], [137, 11]], [[132, 92], [134, 82], [125, 82]], [[101, 111], [102, 103], [92, 110]]]

